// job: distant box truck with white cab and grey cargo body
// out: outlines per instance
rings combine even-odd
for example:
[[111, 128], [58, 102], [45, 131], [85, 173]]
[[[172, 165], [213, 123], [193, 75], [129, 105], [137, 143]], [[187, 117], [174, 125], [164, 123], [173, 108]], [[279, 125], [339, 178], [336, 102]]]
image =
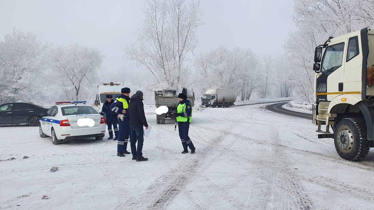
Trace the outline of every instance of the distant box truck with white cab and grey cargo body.
[[234, 105], [236, 102], [236, 89], [208, 89], [201, 97], [201, 105], [205, 105], [205, 107], [212, 106], [213, 108], [222, 107], [223, 97], [226, 99], [225, 107]]

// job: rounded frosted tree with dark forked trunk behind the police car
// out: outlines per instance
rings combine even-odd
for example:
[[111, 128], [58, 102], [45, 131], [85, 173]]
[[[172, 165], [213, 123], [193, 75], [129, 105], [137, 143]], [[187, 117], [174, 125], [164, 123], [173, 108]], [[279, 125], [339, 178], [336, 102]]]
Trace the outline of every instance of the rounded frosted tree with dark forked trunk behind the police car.
[[97, 71], [104, 58], [104, 54], [98, 49], [79, 44], [56, 46], [52, 49], [52, 68], [67, 100], [87, 98], [81, 93], [82, 89], [86, 93], [94, 89]]

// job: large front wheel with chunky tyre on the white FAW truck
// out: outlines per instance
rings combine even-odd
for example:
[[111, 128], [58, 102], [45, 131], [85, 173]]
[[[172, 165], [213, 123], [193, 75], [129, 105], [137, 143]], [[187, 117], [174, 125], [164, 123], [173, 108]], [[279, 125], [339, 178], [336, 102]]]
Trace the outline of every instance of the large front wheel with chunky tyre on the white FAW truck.
[[357, 161], [364, 159], [370, 150], [366, 125], [361, 118], [344, 118], [335, 127], [335, 149], [340, 157]]

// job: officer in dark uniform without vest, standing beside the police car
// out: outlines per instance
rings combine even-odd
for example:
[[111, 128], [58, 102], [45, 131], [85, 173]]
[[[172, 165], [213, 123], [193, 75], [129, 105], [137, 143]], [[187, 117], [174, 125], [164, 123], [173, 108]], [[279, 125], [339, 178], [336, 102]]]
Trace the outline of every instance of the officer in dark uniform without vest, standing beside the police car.
[[[113, 139], [113, 131], [114, 131], [114, 135], [116, 135], [116, 137], [113, 140], [117, 140], [118, 139], [117, 113], [113, 112], [110, 109], [110, 105], [113, 103], [112, 97], [113, 97], [112, 95], [107, 95], [107, 101], [105, 101], [105, 103], [103, 104], [100, 114], [107, 115], [107, 126], [108, 126], [108, 133], [109, 133], [108, 139]], [[112, 130], [112, 124], [113, 124], [113, 130]]]

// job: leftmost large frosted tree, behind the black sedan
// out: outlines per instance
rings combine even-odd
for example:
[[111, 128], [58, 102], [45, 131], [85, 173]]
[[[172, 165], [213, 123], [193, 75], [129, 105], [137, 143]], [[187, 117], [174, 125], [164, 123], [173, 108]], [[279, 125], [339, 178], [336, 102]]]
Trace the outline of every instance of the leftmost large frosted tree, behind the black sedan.
[[30, 101], [39, 92], [48, 44], [13, 29], [0, 40], [0, 102]]

